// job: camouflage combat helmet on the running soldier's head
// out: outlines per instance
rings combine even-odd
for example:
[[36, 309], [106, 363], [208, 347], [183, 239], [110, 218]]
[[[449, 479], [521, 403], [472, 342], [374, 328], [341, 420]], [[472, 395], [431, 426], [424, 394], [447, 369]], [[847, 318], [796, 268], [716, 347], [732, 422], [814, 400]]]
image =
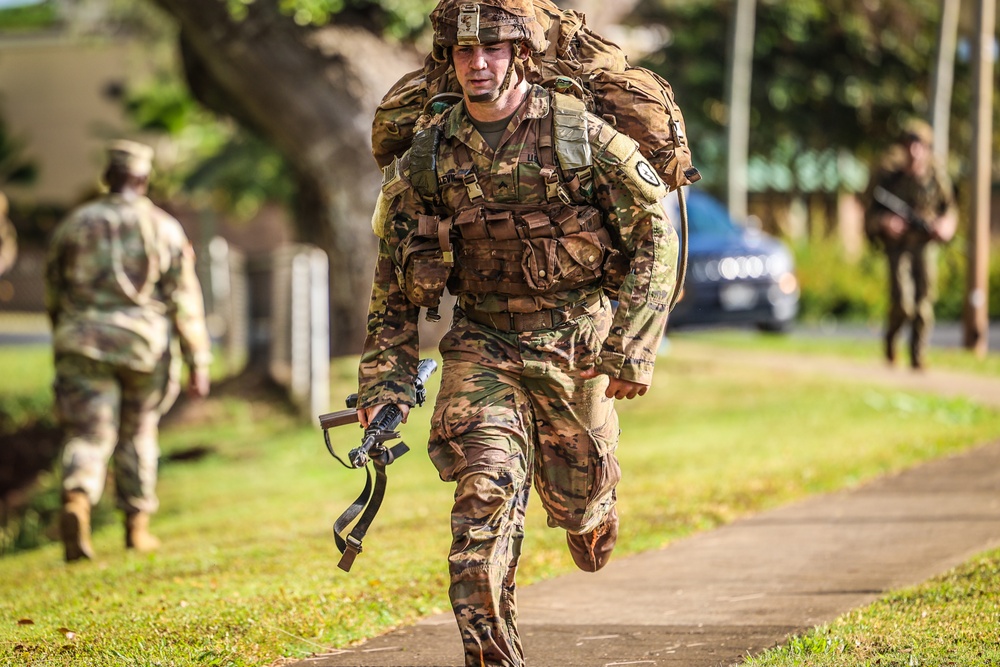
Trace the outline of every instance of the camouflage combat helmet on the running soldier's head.
[[524, 42], [532, 52], [545, 50], [545, 32], [535, 18], [532, 0], [441, 0], [431, 12], [434, 59], [444, 62], [452, 46]]

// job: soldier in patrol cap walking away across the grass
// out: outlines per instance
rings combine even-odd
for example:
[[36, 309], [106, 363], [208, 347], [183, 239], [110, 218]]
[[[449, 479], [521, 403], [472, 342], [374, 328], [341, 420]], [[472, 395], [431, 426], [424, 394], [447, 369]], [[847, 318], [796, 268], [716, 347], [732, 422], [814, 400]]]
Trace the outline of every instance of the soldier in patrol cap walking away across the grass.
[[49, 248], [46, 308], [63, 431], [67, 561], [93, 558], [90, 511], [112, 458], [125, 546], [159, 546], [149, 517], [159, 504], [160, 417], [178, 390], [172, 348], [188, 366], [190, 392], [209, 391], [211, 349], [194, 252], [180, 223], [146, 197], [152, 157], [148, 146], [112, 143], [108, 194], [70, 213]]

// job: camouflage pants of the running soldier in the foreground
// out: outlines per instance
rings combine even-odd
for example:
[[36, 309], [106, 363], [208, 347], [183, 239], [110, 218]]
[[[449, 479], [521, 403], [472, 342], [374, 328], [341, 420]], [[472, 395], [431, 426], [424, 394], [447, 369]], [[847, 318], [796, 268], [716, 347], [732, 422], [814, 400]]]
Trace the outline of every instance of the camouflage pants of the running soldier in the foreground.
[[442, 339], [430, 457], [456, 482], [452, 607], [468, 666], [524, 664], [514, 577], [532, 483], [552, 527], [596, 528], [621, 478], [608, 379], [582, 380], [610, 310], [557, 329], [503, 333], [464, 318]]

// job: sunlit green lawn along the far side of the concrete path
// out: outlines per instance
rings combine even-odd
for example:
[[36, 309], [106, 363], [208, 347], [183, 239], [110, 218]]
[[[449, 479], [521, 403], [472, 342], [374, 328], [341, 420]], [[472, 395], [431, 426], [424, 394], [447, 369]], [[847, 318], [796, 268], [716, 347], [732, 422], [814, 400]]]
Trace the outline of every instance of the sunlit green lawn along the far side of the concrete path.
[[[1000, 437], [1000, 413], [965, 400], [695, 363], [694, 344], [677, 337], [650, 394], [619, 404], [620, 556]], [[21, 356], [0, 354], [0, 376]], [[334, 365], [334, 408], [353, 391], [354, 364]], [[22, 389], [44, 389], [47, 372], [26, 371], [39, 384]], [[336, 568], [331, 525], [364, 474], [267, 401], [219, 397], [194, 412], [161, 438], [158, 553], [126, 552], [115, 520], [97, 530], [94, 562], [67, 566], [55, 543], [0, 559], [0, 665], [268, 665], [449, 608], [453, 489], [423, 452], [429, 406], [403, 427], [413, 452], [389, 469], [350, 575]], [[359, 434], [331, 432], [342, 452]], [[197, 447], [208, 455], [172, 457]], [[573, 570], [533, 503], [519, 583]]]

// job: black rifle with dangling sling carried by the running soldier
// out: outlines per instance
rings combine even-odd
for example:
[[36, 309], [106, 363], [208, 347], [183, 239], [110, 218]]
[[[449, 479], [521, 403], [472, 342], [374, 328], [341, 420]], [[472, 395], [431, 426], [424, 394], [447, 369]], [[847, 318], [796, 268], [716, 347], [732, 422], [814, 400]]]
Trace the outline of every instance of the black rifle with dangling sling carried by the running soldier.
[[[423, 405], [427, 400], [427, 390], [424, 385], [431, 374], [437, 370], [437, 362], [433, 359], [424, 359], [417, 366], [417, 377], [414, 380], [416, 390], [416, 403]], [[337, 456], [333, 445], [330, 443], [329, 429], [345, 424], [355, 424], [358, 422], [358, 395], [351, 394], [347, 397], [347, 410], [329, 412], [319, 416], [319, 425], [323, 429], [323, 439], [326, 442], [326, 449], [333, 458], [337, 459], [345, 468], [364, 468], [367, 473], [365, 488], [361, 495], [355, 499], [351, 506], [333, 524], [333, 538], [340, 550], [341, 558], [337, 563], [344, 572], [350, 572], [354, 559], [361, 553], [361, 540], [371, 526], [372, 520], [382, 506], [382, 499], [385, 497], [386, 473], [385, 467], [398, 459], [400, 456], [410, 451], [406, 443], [399, 441], [394, 447], [387, 447], [386, 443], [400, 437], [396, 430], [403, 421], [403, 413], [396, 405], [386, 405], [375, 416], [375, 419], [365, 429], [361, 437], [361, 445], [355, 447], [348, 453], [347, 463]], [[371, 463], [371, 467], [368, 464]], [[375, 483], [372, 484], [372, 471], [375, 468]], [[364, 512], [364, 514], [362, 514]], [[341, 533], [347, 528], [359, 514], [361, 519], [354, 526], [350, 535], [343, 537]]]

